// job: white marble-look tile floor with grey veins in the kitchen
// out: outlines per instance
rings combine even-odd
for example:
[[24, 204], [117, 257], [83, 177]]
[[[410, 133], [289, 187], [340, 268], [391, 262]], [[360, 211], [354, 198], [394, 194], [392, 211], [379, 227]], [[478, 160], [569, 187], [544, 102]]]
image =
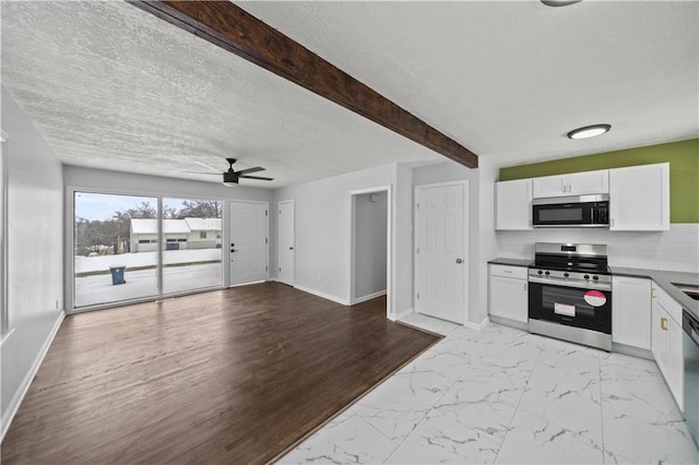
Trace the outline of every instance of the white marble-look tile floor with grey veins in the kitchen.
[[655, 362], [490, 323], [446, 335], [283, 464], [699, 464]]

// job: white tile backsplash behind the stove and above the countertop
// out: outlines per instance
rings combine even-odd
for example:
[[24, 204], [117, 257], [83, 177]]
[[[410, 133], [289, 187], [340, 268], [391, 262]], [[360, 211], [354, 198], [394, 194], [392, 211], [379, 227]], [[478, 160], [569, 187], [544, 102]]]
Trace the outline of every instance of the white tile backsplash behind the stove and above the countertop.
[[699, 273], [699, 224], [673, 223], [667, 231], [556, 228], [497, 231], [499, 257], [534, 259], [534, 242], [606, 243], [609, 265]]

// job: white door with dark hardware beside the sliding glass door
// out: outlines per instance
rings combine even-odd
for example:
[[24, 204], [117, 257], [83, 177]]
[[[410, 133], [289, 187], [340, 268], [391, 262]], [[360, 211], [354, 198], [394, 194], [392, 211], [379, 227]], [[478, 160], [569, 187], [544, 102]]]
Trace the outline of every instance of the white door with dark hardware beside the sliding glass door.
[[266, 279], [268, 206], [262, 202], [230, 202], [230, 285]]

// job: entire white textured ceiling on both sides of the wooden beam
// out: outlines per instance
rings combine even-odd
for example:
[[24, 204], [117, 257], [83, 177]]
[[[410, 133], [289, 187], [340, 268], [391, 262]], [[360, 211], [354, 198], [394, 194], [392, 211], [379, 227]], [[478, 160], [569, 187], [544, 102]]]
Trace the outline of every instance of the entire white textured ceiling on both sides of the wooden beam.
[[[239, 2], [507, 166], [699, 135], [699, 2]], [[67, 164], [277, 188], [436, 153], [126, 2], [2, 2], [2, 83]], [[570, 141], [597, 122], [612, 132]]]

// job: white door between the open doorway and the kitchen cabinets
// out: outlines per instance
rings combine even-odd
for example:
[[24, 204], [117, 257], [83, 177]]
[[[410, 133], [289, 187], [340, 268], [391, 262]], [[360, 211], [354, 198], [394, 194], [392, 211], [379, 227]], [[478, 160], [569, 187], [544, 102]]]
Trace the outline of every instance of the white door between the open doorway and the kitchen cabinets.
[[415, 309], [463, 323], [465, 313], [464, 184], [416, 188]]

